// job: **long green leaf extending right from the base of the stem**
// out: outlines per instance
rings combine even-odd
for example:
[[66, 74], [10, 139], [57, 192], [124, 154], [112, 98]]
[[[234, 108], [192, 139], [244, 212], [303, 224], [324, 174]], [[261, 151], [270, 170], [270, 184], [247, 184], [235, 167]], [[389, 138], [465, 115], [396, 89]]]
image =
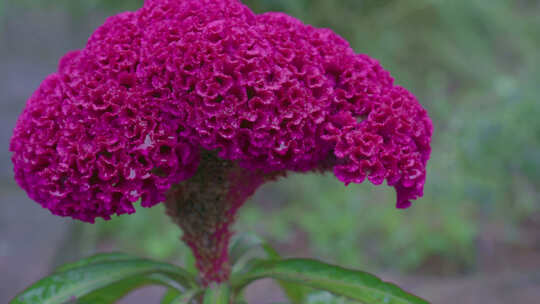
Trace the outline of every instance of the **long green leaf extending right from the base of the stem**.
[[231, 285], [238, 288], [261, 278], [298, 283], [363, 303], [428, 303], [369, 273], [310, 259], [260, 261], [243, 276], [233, 277]]

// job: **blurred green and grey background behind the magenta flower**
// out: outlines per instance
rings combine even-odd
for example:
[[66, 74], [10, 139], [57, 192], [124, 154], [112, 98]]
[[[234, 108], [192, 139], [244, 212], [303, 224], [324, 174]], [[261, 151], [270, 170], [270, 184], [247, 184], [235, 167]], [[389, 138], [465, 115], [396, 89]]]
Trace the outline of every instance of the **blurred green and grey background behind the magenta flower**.
[[[286, 256], [372, 271], [433, 303], [538, 303], [540, 1], [244, 3], [332, 28], [380, 60], [428, 109], [435, 135], [425, 197], [408, 210], [394, 209], [387, 187], [292, 175], [263, 187], [236, 229]], [[80, 224], [50, 215], [12, 178], [8, 144], [26, 99], [107, 15], [141, 4], [0, 0], [0, 303], [54, 266], [98, 251], [183, 262], [181, 232], [161, 206]], [[157, 303], [160, 292], [125, 303]], [[250, 291], [250, 303], [280, 298], [269, 282]]]

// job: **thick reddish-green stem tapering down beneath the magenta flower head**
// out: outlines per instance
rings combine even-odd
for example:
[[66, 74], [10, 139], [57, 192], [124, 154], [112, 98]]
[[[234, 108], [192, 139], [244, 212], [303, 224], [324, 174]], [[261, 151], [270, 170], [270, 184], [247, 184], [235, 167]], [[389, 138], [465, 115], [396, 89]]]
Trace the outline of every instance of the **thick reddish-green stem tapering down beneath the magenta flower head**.
[[238, 209], [269, 177], [207, 152], [195, 175], [169, 190], [167, 214], [182, 228], [203, 286], [229, 279], [230, 227]]

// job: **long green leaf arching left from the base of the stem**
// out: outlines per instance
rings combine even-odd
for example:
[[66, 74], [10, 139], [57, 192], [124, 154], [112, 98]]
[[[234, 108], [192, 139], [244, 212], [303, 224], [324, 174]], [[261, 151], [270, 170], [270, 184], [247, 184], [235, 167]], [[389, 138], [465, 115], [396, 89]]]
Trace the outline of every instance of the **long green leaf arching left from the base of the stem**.
[[[65, 270], [41, 279], [15, 297], [11, 304], [61, 304], [73, 299], [84, 299], [85, 296], [92, 299], [96, 297], [92, 295], [94, 292], [103, 289], [111, 291], [109, 287], [115, 284], [118, 284], [116, 287], [119, 288], [118, 293], [115, 292], [116, 296], [120, 296], [131, 287], [142, 284], [145, 277], [153, 283], [166, 286], [175, 282], [185, 288], [195, 286], [195, 278], [185, 270], [175, 265], [148, 259], [81, 263], [80, 265], [82, 266], [62, 268]], [[133, 278], [140, 278], [141, 281]]]

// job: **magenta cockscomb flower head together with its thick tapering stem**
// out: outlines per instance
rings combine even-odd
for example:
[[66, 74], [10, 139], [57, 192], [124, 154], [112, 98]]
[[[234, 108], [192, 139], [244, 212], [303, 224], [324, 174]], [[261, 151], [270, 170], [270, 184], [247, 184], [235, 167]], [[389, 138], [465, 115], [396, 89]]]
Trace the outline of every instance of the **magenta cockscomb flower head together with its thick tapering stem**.
[[166, 201], [207, 282], [265, 181], [332, 170], [422, 196], [432, 124], [380, 64], [328, 29], [238, 0], [147, 0], [109, 18], [29, 99], [15, 178], [86, 222]]

